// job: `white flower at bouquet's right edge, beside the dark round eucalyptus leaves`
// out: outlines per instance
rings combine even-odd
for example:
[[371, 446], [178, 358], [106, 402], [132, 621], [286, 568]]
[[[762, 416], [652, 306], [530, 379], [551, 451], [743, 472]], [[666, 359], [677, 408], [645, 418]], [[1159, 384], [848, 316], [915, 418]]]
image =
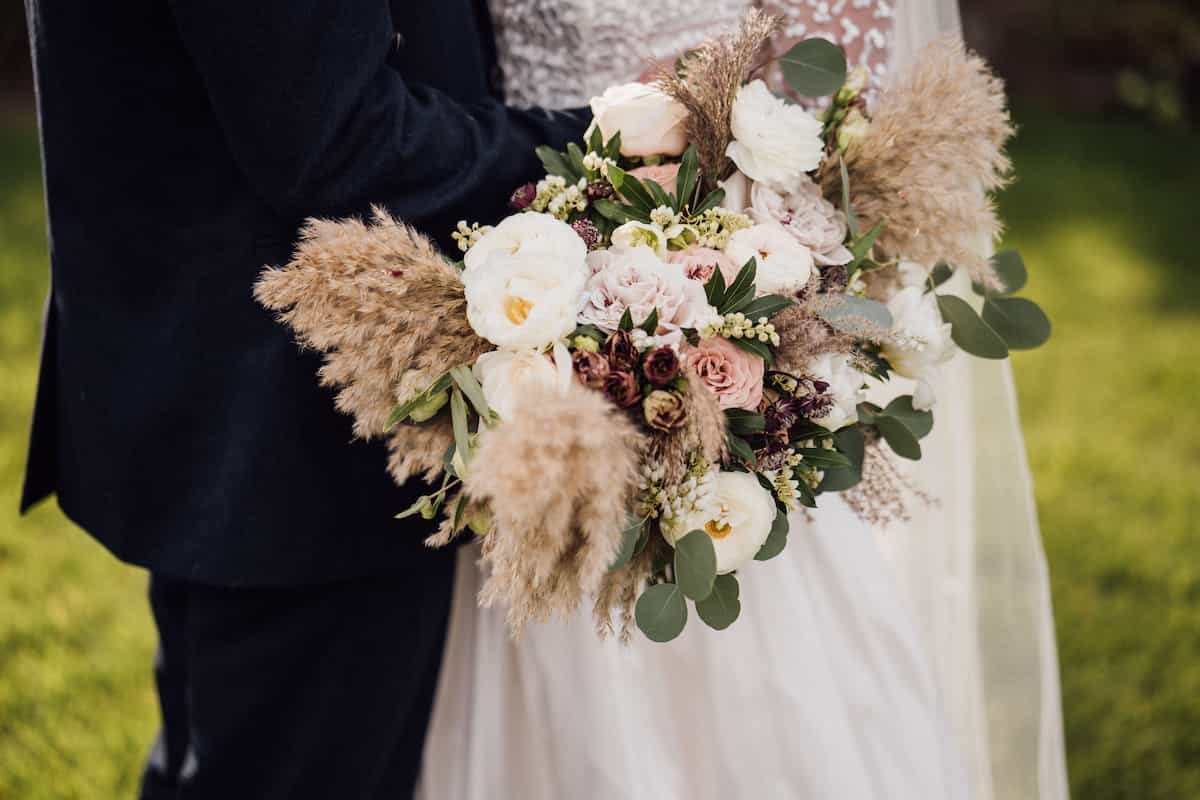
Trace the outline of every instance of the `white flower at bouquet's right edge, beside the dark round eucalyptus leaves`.
[[896, 374], [917, 381], [913, 408], [934, 405], [937, 368], [954, 356], [950, 324], [937, 309], [937, 297], [918, 287], [906, 287], [888, 301], [893, 341], [883, 345], [883, 357]]

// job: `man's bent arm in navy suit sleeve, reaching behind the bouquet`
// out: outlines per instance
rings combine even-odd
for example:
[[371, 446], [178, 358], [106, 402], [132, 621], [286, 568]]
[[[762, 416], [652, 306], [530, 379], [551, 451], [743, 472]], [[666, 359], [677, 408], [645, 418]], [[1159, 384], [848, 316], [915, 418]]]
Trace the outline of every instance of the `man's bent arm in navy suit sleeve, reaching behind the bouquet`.
[[[385, 64], [385, 0], [173, 0], [229, 148], [281, 215], [384, 203], [401, 217], [503, 207], [534, 148], [582, 136], [583, 112], [458, 103]], [[454, 59], [454, 53], [446, 53]]]

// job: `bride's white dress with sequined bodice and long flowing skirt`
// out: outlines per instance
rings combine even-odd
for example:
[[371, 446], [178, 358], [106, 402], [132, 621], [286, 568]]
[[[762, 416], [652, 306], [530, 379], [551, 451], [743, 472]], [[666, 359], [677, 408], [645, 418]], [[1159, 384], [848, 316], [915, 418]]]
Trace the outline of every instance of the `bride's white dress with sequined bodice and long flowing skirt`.
[[[822, 35], [882, 80], [890, 0], [788, 0], [790, 41]], [[492, 0], [509, 101], [584, 104], [727, 30], [745, 0]], [[941, 425], [941, 422], [940, 422]], [[934, 445], [936, 446], [936, 445]], [[949, 452], [949, 449], [947, 449]], [[797, 517], [784, 555], [742, 582], [743, 614], [692, 619], [672, 643], [598, 640], [590, 614], [514, 644], [458, 560], [424, 800], [774, 800], [990, 796], [972, 741], [978, 698], [938, 680], [911, 588], [835, 497]], [[935, 663], [937, 662], [937, 663]], [[977, 720], [974, 721], [977, 722]], [[968, 768], [968, 764], [970, 768]], [[982, 772], [980, 772], [982, 769]], [[974, 775], [976, 777], [972, 777]], [[1033, 795], [1026, 795], [1033, 796]]]

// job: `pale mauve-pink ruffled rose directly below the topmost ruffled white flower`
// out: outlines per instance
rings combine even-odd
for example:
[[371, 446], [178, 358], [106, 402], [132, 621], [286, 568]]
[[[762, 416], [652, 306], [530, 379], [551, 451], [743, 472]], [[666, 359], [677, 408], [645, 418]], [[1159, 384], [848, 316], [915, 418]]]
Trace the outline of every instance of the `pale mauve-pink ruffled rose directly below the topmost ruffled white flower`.
[[821, 265], [850, 264], [854, 255], [846, 248], [846, 215], [821, 194], [821, 187], [806, 175], [788, 193], [776, 192], [766, 184], [750, 191], [750, 217], [760, 223], [775, 223], [812, 252]]

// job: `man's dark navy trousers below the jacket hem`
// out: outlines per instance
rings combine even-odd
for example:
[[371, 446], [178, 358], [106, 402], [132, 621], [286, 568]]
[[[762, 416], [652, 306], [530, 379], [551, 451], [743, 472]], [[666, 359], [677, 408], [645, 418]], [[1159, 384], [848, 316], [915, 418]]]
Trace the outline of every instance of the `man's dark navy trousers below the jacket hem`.
[[162, 730], [142, 799], [410, 798], [452, 581], [451, 551], [317, 587], [152, 575]]

